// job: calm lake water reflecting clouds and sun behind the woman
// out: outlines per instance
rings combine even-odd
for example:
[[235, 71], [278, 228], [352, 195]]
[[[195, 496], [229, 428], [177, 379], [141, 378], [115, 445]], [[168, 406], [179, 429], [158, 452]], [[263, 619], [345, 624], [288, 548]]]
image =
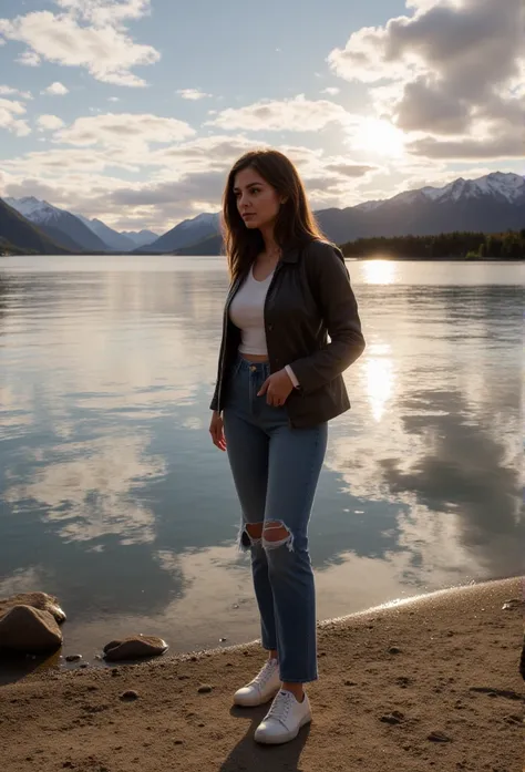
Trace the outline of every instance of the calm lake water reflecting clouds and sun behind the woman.
[[[310, 526], [318, 617], [524, 573], [523, 264], [350, 261], [346, 373]], [[0, 258], [0, 596], [41, 589], [64, 653], [259, 636], [208, 435], [222, 258]]]

